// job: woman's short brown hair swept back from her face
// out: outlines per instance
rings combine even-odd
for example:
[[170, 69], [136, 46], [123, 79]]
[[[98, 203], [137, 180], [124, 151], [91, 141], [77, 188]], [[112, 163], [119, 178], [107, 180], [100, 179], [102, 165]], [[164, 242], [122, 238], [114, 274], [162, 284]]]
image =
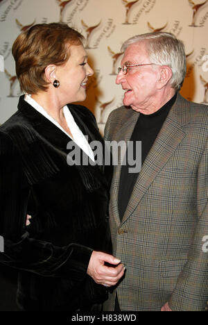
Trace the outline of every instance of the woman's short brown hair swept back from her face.
[[67, 24], [37, 24], [21, 33], [12, 46], [20, 88], [28, 94], [46, 91], [44, 70], [69, 59], [70, 46], [83, 44], [84, 37]]

